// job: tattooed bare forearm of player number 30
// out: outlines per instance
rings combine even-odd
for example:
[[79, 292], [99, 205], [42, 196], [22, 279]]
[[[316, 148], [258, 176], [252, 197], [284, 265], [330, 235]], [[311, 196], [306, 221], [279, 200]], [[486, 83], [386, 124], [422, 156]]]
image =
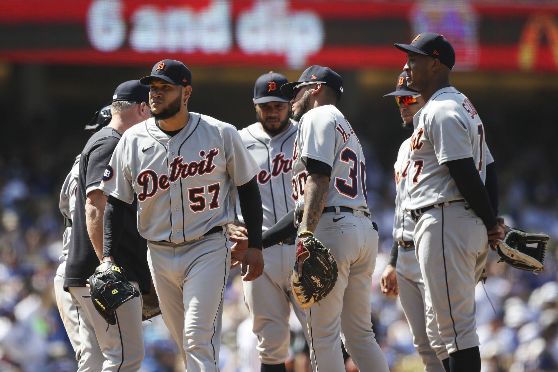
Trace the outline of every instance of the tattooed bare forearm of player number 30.
[[329, 175], [313, 173], [306, 179], [304, 188], [304, 214], [300, 223], [300, 231], [316, 230], [328, 198]]

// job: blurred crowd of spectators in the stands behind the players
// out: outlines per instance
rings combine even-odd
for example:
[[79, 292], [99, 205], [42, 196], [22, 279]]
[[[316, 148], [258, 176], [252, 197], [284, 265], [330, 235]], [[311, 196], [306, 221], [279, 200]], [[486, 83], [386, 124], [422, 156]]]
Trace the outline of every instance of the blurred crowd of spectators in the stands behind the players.
[[[391, 248], [395, 190], [391, 169], [374, 163], [368, 149], [368, 197], [378, 223], [380, 251], [372, 280], [372, 318], [377, 340], [393, 371], [420, 371], [421, 361], [397, 297], [379, 290], [379, 276]], [[491, 253], [488, 279], [477, 287], [477, 327], [483, 372], [558, 371], [558, 208], [551, 177], [527, 177], [536, 153], [499, 167], [500, 212], [510, 226], [551, 236], [546, 270], [539, 275], [497, 263]], [[53, 159], [50, 159], [53, 158]], [[60, 158], [60, 159], [57, 159]], [[68, 159], [66, 159], [68, 158]], [[76, 361], [56, 308], [52, 280], [59, 265], [62, 216], [59, 191], [71, 158], [49, 154], [50, 161], [25, 162], [0, 155], [0, 371], [75, 371]], [[519, 164], [518, 164], [519, 163]], [[517, 169], [525, 169], [518, 173]], [[551, 171], [546, 174], [552, 175]], [[239, 269], [231, 272], [223, 316], [222, 372], [259, 371], [244, 305]], [[264, 301], [264, 299], [262, 299]], [[291, 319], [288, 368], [310, 371], [301, 326]], [[182, 371], [170, 333], [156, 317], [144, 322], [146, 358], [142, 372]], [[350, 368], [350, 360], [348, 361]]]

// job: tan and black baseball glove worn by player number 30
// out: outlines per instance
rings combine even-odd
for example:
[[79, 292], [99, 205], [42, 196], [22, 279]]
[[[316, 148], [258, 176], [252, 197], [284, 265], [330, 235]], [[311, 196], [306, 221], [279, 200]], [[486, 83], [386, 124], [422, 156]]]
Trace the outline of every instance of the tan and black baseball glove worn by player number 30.
[[[302, 309], [307, 309], [323, 300], [337, 281], [337, 261], [330, 250], [315, 237], [306, 237], [296, 245], [296, 262], [288, 277], [292, 295]], [[302, 263], [302, 276], [299, 278], [298, 259], [307, 255]]]

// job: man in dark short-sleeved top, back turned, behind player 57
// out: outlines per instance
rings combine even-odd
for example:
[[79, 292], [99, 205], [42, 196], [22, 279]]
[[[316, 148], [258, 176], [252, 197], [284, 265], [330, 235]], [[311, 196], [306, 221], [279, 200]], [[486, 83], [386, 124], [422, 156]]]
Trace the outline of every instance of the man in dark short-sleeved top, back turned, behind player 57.
[[[100, 189], [105, 169], [122, 133], [148, 117], [148, 89], [138, 80], [120, 84], [110, 106], [112, 120], [100, 128], [81, 152], [78, 188], [66, 263], [64, 289], [78, 303], [81, 359], [78, 371], [137, 371], [143, 361], [142, 300], [133, 298], [118, 308], [117, 324], [107, 323], [95, 309], [86, 280], [102, 258], [103, 213], [107, 195]], [[149, 292], [151, 276], [147, 266], [147, 245], [137, 232], [136, 208], [124, 213], [126, 225], [121, 250], [116, 258], [127, 278], [142, 293]]]

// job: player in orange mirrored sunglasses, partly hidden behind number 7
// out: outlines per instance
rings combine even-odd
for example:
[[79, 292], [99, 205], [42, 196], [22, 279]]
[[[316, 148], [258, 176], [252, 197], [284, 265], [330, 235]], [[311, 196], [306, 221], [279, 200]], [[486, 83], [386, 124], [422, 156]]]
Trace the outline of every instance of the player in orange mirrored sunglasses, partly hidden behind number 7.
[[[403, 128], [412, 130], [413, 116], [424, 106], [424, 101], [419, 92], [407, 87], [405, 76], [406, 72], [403, 71], [397, 79], [395, 92], [386, 94], [384, 97], [395, 97], [403, 120]], [[435, 327], [432, 327], [435, 331], [431, 335], [427, 335], [429, 329], [426, 327], [426, 322], [427, 319], [433, 321], [434, 314], [432, 308], [426, 306], [424, 301], [424, 281], [413, 244], [415, 222], [412, 220], [410, 213], [403, 212], [401, 209], [403, 190], [409, 171], [410, 142], [411, 138], [409, 137], [401, 144], [393, 169], [396, 188], [393, 247], [386, 269], [382, 274], [380, 285], [382, 293], [400, 295], [403, 313], [405, 313], [413, 335], [413, 344], [419, 352], [425, 371], [443, 372], [444, 368], [440, 360], [448, 357], [446, 347]], [[417, 311], [417, 309], [424, 309], [424, 312]], [[429, 339], [432, 341], [429, 342]]]

